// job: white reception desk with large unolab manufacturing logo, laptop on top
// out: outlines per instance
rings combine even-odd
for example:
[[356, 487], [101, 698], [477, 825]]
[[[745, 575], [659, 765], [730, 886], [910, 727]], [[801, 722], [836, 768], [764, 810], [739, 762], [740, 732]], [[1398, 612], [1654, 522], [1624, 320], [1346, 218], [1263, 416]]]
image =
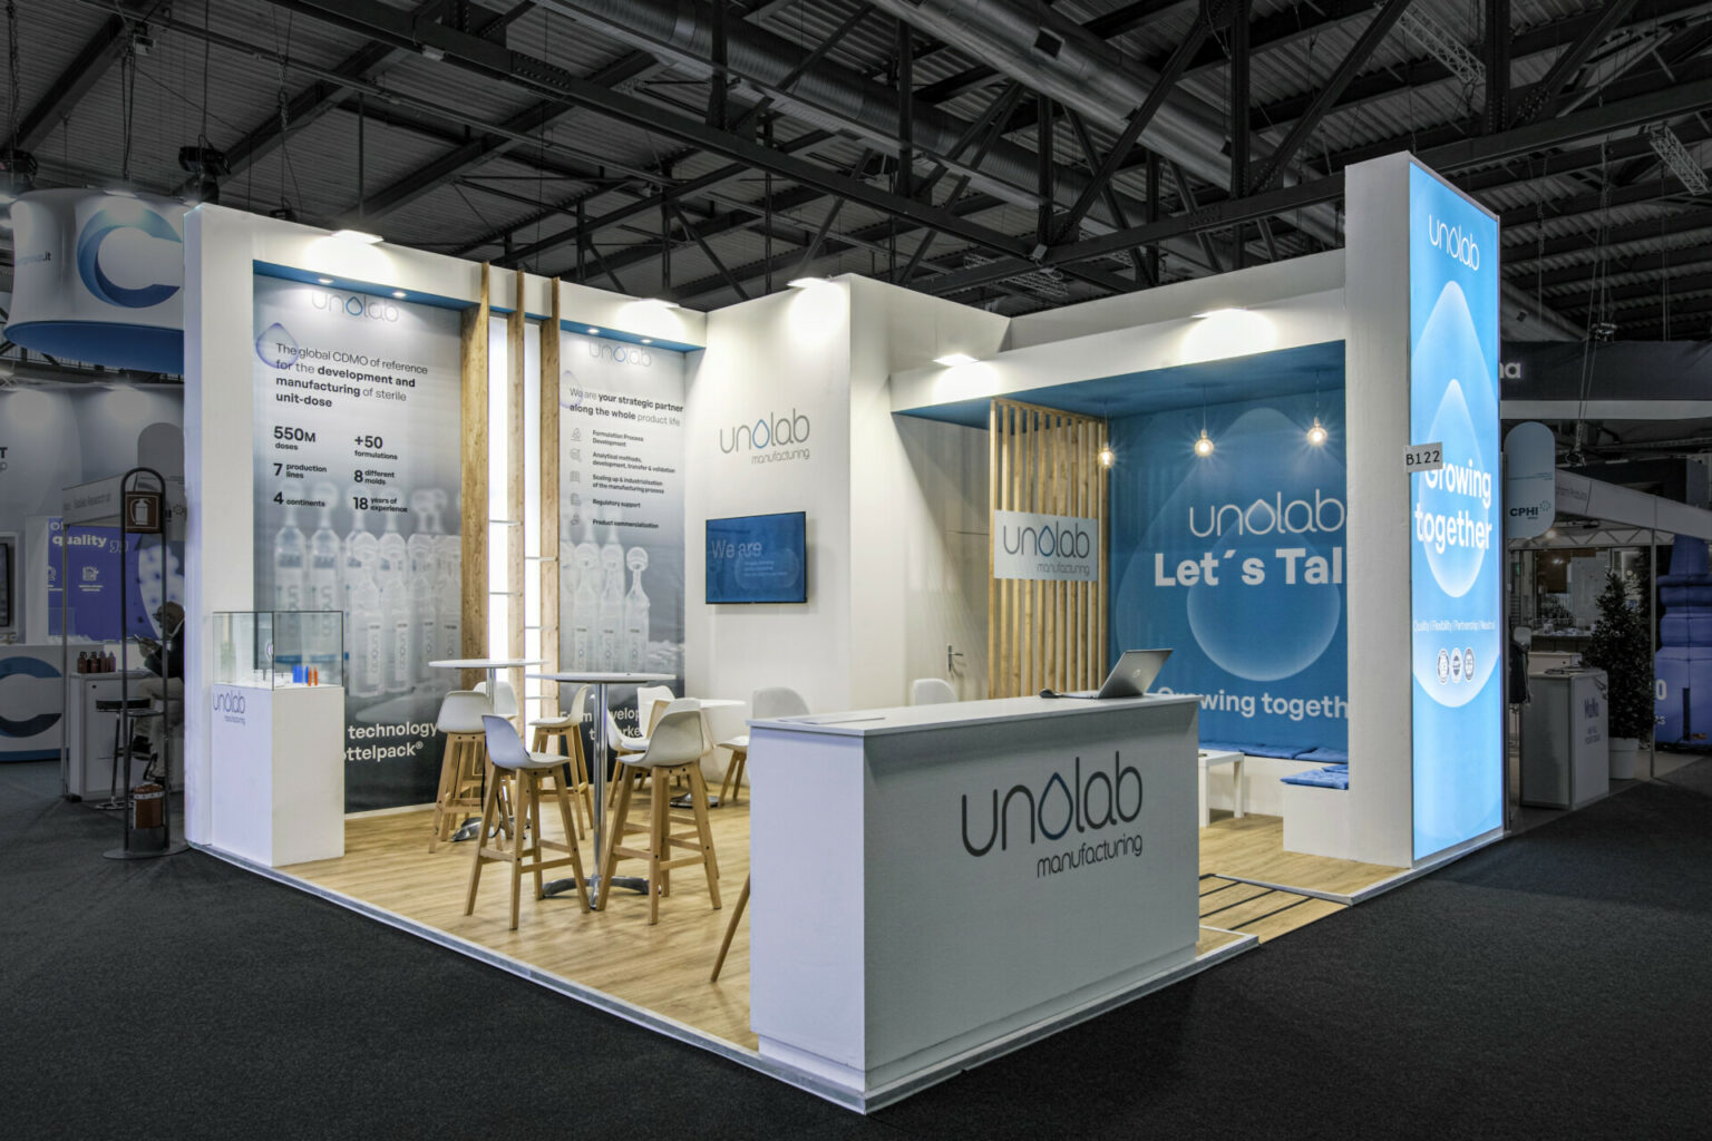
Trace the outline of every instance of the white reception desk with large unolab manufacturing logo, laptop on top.
[[1195, 960], [1198, 698], [750, 722], [750, 1023], [875, 1108]]

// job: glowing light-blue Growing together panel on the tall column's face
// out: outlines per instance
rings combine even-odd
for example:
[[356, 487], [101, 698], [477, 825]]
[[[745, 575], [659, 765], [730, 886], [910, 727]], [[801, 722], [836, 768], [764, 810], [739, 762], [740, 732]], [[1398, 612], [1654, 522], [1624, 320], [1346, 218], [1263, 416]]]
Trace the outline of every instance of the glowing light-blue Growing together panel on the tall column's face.
[[1414, 857], [1503, 823], [1498, 222], [1409, 168]]

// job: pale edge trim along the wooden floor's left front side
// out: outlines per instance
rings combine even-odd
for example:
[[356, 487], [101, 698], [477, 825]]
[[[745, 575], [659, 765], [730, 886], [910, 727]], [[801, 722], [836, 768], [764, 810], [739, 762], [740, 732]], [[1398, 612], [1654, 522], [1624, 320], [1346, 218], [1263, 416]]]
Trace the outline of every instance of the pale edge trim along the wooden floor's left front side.
[[847, 1090], [825, 1083], [818, 1079], [815, 1074], [796, 1069], [794, 1066], [784, 1066], [769, 1057], [764, 1057], [745, 1045], [731, 1042], [729, 1038], [721, 1038], [717, 1035], [707, 1033], [705, 1030], [697, 1030], [688, 1023], [681, 1023], [676, 1018], [661, 1014], [659, 1011], [652, 1011], [645, 1006], [639, 1006], [627, 999], [620, 999], [618, 996], [608, 994], [606, 990], [596, 990], [594, 987], [587, 987], [572, 978], [565, 978], [563, 975], [555, 975], [553, 972], [531, 967], [522, 960], [512, 958], [510, 955], [502, 955], [500, 951], [481, 946], [479, 943], [462, 939], [431, 924], [414, 920], [407, 915], [399, 915], [397, 912], [377, 907], [373, 903], [368, 903], [366, 900], [360, 900], [342, 891], [336, 891], [310, 879], [301, 879], [300, 876], [293, 876], [291, 872], [282, 871], [279, 867], [269, 867], [267, 864], [259, 864], [245, 855], [238, 855], [236, 852], [226, 852], [224, 848], [217, 848], [209, 843], [192, 843], [190, 847], [205, 855], [212, 855], [217, 860], [224, 860], [235, 867], [240, 867], [247, 872], [262, 876], [264, 879], [272, 879], [274, 883], [284, 884], [286, 888], [294, 888], [298, 891], [303, 891], [305, 895], [325, 900], [334, 907], [342, 907], [349, 912], [363, 915], [365, 919], [373, 919], [377, 922], [387, 924], [389, 927], [395, 927], [404, 934], [416, 936], [418, 939], [423, 939], [426, 943], [433, 943], [449, 951], [455, 951], [459, 955], [473, 958], [478, 963], [486, 963], [488, 967], [495, 967], [510, 975], [517, 975], [519, 978], [532, 982], [539, 987], [546, 987], [548, 990], [563, 994], [568, 999], [575, 999], [577, 1002], [592, 1006], [599, 1011], [604, 1011], [628, 1023], [642, 1026], [644, 1030], [652, 1030], [668, 1038], [675, 1038], [678, 1042], [700, 1047], [709, 1054], [716, 1054], [729, 1062], [736, 1062], [738, 1066], [745, 1066], [748, 1069], [762, 1073], [769, 1078], [774, 1078], [789, 1086], [803, 1090], [805, 1093], [813, 1093], [815, 1097], [832, 1102], [834, 1105], [839, 1105], [842, 1108], [863, 1112], [861, 1100], [851, 1095]]

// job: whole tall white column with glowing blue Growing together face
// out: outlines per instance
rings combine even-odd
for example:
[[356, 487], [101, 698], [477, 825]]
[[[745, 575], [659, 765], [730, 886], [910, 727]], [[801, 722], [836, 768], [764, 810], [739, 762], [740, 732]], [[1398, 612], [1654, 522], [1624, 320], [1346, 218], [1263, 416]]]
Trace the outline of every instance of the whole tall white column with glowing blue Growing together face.
[[1349, 855], [1411, 867], [1503, 826], [1498, 222], [1407, 154], [1346, 185]]

